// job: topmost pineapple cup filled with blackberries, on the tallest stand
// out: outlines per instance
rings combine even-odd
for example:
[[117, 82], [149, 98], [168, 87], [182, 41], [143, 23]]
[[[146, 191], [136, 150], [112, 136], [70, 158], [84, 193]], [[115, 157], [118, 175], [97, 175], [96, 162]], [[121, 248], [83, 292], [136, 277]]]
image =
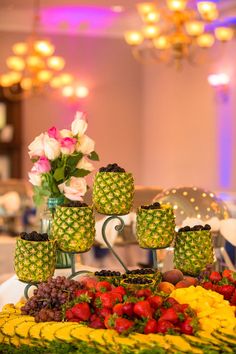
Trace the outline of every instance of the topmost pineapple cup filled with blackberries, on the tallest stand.
[[99, 213], [128, 214], [132, 208], [133, 197], [132, 173], [125, 172], [116, 163], [100, 168], [93, 184], [93, 204]]

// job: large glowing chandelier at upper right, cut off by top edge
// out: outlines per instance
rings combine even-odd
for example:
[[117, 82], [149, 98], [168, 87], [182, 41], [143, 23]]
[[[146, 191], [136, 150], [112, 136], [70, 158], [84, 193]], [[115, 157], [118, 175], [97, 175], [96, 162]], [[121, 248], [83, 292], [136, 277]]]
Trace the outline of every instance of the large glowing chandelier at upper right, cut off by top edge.
[[143, 26], [126, 32], [125, 40], [141, 62], [163, 61], [178, 67], [184, 59], [195, 63], [197, 50], [211, 48], [216, 40], [228, 42], [234, 36], [232, 28], [214, 22], [219, 12], [213, 1], [166, 0], [166, 5], [137, 4]]

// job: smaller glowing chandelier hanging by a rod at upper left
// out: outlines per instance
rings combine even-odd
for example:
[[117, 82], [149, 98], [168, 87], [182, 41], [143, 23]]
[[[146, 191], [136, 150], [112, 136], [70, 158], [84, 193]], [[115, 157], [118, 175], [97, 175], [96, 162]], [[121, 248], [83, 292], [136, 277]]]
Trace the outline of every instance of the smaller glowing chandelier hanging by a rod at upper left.
[[6, 59], [9, 71], [0, 76], [3, 95], [10, 100], [42, 93], [47, 88], [59, 89], [74, 80], [71, 74], [63, 72], [65, 60], [54, 55], [54, 45], [38, 36], [39, 12], [39, 1], [35, 0], [32, 33], [12, 46], [13, 55]]

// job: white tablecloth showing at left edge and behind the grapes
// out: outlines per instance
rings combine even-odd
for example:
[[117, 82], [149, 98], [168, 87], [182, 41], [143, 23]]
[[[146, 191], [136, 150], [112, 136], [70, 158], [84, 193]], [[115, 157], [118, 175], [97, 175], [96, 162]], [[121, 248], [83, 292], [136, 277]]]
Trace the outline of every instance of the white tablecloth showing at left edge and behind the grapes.
[[[83, 269], [89, 270], [91, 272], [97, 270], [96, 268], [89, 267], [86, 265], [81, 265], [81, 264], [76, 265], [76, 271], [83, 270]], [[70, 269], [57, 269], [55, 271], [54, 276], [58, 276], [58, 275], [69, 276], [70, 274], [71, 274]], [[4, 283], [2, 283], [0, 285], [0, 310], [5, 304], [8, 303], [15, 304], [17, 301], [19, 301], [24, 296], [25, 287], [26, 287], [26, 283], [19, 281], [16, 275], [12, 276]], [[33, 287], [32, 287], [32, 291], [33, 291]]]

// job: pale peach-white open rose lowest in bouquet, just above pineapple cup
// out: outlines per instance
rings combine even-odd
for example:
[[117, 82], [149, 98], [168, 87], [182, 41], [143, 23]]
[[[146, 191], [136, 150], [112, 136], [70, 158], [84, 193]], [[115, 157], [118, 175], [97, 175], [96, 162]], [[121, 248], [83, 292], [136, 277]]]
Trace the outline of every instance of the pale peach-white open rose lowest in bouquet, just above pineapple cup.
[[83, 200], [83, 196], [87, 192], [87, 183], [85, 178], [71, 177], [64, 183], [58, 186], [61, 193], [70, 200]]

